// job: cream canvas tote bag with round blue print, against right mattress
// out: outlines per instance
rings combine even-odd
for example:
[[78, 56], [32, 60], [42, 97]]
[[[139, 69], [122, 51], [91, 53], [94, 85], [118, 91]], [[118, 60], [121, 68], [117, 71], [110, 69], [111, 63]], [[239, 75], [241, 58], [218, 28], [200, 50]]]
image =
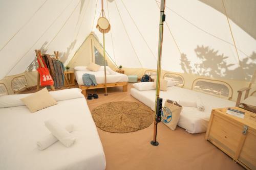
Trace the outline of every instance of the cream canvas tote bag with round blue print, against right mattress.
[[181, 110], [182, 106], [177, 102], [171, 100], [165, 101], [161, 115], [162, 123], [168, 128], [175, 130], [180, 118]]

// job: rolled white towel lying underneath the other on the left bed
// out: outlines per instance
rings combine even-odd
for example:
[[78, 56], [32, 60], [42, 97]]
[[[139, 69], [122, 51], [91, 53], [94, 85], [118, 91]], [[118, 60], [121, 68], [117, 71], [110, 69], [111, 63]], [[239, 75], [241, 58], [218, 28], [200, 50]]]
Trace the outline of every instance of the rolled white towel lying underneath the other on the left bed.
[[[68, 125], [65, 128], [68, 132], [72, 132], [73, 131], [73, 125]], [[36, 142], [37, 145], [37, 149], [38, 150], [45, 150], [48, 147], [50, 147], [50, 145], [52, 145], [53, 143], [57, 142], [58, 139], [51, 133], [43, 138], [41, 138], [40, 140], [38, 140]]]

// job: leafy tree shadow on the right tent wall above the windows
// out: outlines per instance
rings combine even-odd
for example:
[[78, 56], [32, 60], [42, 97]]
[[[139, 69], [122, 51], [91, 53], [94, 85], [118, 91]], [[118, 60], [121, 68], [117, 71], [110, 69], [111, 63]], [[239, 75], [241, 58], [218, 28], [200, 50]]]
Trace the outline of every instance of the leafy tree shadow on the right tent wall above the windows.
[[195, 49], [196, 56], [200, 59], [199, 63], [191, 63], [185, 54], [181, 55], [181, 68], [189, 74], [198, 74], [212, 78], [227, 78], [250, 81], [251, 76], [256, 69], [256, 53], [244, 58], [241, 66], [233, 68], [235, 64], [227, 63], [228, 56], [219, 54], [208, 46], [197, 46]]

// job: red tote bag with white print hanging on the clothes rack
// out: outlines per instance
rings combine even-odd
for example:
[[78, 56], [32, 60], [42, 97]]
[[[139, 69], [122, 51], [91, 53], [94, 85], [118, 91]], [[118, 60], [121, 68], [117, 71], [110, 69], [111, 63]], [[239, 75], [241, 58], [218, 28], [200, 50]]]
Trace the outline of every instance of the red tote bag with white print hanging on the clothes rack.
[[39, 72], [40, 75], [40, 83], [41, 86], [48, 86], [48, 85], [53, 85], [53, 79], [50, 75], [49, 69], [47, 68], [47, 65], [45, 63], [45, 61], [42, 59], [41, 55], [38, 55], [38, 57], [40, 57], [42, 63], [44, 63], [45, 67], [41, 66], [41, 63], [39, 62], [38, 58], [37, 58], [37, 62], [38, 62], [38, 68], [37, 71]]

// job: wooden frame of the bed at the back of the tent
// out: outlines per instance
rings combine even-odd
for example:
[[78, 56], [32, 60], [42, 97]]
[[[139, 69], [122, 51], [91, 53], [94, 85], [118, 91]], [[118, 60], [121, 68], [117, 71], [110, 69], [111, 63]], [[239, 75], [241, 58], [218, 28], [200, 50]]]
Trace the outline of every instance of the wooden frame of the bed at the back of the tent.
[[[118, 86], [123, 86], [123, 92], [125, 92], [127, 91], [128, 82], [106, 83], [106, 87], [118, 87]], [[82, 90], [82, 94], [86, 96], [87, 95], [86, 90], [105, 88], [105, 84], [98, 84], [97, 86], [79, 85], [79, 88]]]

